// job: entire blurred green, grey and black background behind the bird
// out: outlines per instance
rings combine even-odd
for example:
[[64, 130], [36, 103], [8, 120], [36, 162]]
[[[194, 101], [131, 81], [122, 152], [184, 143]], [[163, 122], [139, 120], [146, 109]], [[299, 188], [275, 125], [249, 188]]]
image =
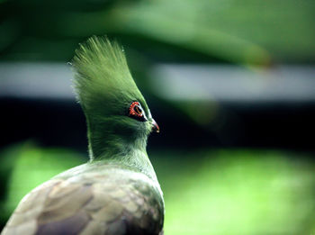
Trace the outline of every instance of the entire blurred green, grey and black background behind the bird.
[[161, 128], [148, 154], [166, 234], [315, 232], [315, 2], [0, 0], [0, 224], [87, 160], [71, 91], [79, 42], [106, 34]]

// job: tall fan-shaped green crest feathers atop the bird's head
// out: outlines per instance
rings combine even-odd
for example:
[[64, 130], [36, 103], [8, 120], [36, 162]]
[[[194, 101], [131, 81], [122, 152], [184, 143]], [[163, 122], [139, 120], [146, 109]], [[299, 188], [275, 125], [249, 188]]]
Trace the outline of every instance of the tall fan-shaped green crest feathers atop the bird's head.
[[133, 101], [139, 101], [148, 111], [116, 41], [91, 37], [76, 50], [73, 67], [77, 99], [85, 114], [124, 114], [121, 112]]

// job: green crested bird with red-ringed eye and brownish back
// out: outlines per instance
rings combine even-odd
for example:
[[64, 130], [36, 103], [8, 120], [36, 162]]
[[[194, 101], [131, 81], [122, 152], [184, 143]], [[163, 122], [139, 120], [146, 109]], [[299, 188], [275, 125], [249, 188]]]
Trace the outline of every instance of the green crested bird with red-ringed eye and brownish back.
[[89, 160], [26, 194], [1, 234], [164, 234], [163, 193], [147, 153], [148, 135], [159, 127], [124, 50], [92, 36], [71, 65]]

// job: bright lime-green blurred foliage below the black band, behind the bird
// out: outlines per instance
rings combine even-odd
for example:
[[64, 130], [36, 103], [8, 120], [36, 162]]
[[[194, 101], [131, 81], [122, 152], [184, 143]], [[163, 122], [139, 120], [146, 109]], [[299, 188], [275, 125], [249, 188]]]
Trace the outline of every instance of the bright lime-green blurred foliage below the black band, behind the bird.
[[[311, 234], [315, 182], [307, 158], [251, 149], [149, 155], [165, 194], [167, 234]], [[5, 150], [1, 158], [14, 159], [3, 221], [33, 187], [86, 160], [30, 143]]]

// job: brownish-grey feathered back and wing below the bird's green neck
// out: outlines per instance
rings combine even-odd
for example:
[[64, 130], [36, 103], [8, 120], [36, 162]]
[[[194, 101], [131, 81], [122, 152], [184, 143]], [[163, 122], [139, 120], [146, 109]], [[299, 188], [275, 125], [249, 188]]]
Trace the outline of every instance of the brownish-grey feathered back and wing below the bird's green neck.
[[2, 234], [158, 234], [162, 227], [163, 206], [150, 185], [85, 174], [31, 191]]

